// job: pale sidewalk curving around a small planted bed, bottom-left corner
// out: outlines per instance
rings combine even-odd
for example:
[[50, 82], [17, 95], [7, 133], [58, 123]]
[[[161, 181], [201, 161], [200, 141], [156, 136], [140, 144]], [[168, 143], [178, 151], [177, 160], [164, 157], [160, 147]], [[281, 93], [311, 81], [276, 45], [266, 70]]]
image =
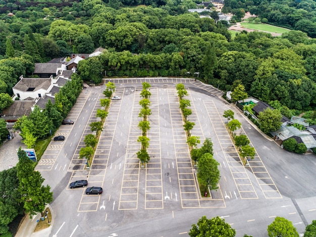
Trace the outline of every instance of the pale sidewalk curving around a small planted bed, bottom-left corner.
[[37, 220], [41, 217], [40, 213], [37, 213], [37, 215], [33, 216], [32, 219], [30, 219], [29, 216], [26, 216], [25, 219], [23, 220], [22, 224], [20, 225], [18, 232], [16, 233], [16, 235], [14, 237], [43, 237], [43, 236], [49, 236], [50, 232], [51, 232], [51, 226], [54, 224], [54, 212], [52, 211], [51, 207], [49, 206], [49, 204], [47, 204], [47, 207], [50, 209], [51, 211], [51, 220], [50, 223], [51, 225], [46, 228], [46, 229], [42, 229], [40, 231], [37, 231], [35, 233], [33, 233], [36, 224], [37, 224]]

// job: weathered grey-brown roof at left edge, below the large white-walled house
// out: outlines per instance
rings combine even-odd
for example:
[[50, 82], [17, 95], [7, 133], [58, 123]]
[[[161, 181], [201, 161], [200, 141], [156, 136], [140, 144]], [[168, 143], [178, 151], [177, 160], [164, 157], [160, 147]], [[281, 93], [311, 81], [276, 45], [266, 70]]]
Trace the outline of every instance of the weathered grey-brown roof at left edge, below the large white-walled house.
[[[4, 109], [1, 113], [2, 116], [18, 116], [21, 117], [23, 115], [29, 115], [32, 110], [31, 106], [33, 106], [34, 101], [27, 100], [27, 101], [14, 101], [13, 104], [7, 108]], [[8, 118], [4, 118], [8, 120]]]

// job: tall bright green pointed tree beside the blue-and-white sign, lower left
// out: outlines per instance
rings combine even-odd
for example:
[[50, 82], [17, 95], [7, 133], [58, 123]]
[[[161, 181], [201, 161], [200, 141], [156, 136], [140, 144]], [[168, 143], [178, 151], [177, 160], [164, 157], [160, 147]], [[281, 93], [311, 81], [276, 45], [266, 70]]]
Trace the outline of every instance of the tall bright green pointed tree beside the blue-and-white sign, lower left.
[[32, 218], [32, 215], [44, 211], [46, 204], [52, 201], [52, 193], [48, 185], [42, 185], [44, 178], [42, 178], [40, 172], [34, 171], [33, 161], [28, 158], [21, 147], [18, 150], [18, 157], [18, 189], [21, 200], [24, 202], [24, 210]]

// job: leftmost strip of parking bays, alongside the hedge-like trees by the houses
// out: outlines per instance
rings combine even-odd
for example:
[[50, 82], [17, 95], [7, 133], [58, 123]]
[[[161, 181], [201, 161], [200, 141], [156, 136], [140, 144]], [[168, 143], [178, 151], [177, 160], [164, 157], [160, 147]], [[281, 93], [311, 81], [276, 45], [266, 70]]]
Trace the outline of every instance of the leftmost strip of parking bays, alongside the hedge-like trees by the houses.
[[[80, 111], [84, 107], [85, 103], [87, 102], [88, 98], [90, 97], [91, 90], [87, 90], [84, 92], [81, 92], [79, 97], [77, 98], [76, 104], [72, 107], [71, 111], [68, 114], [69, 119], [71, 120], [77, 120]], [[59, 129], [56, 132], [56, 136], [63, 135], [65, 136], [66, 140], [64, 141], [50, 141], [47, 149], [45, 150], [44, 154], [42, 155], [41, 159], [38, 161], [35, 169], [40, 170], [51, 170], [53, 167], [55, 169], [59, 170], [65, 170], [66, 166], [61, 167], [56, 164], [56, 159], [60, 155], [60, 152], [62, 151], [63, 146], [65, 145], [67, 140], [70, 140], [69, 135], [72, 131], [72, 128], [76, 126], [75, 125], [61, 125]], [[65, 154], [66, 156], [67, 154]]]

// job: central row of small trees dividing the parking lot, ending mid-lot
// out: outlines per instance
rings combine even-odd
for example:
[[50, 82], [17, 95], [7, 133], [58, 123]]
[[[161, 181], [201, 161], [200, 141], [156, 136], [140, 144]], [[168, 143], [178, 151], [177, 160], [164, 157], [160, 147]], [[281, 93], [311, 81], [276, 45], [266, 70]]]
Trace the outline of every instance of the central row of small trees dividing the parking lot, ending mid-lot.
[[140, 151], [136, 153], [137, 158], [141, 161], [142, 165], [149, 162], [149, 154], [147, 148], [149, 147], [149, 138], [147, 137], [147, 131], [150, 129], [150, 122], [148, 121], [148, 116], [151, 115], [151, 109], [149, 109], [151, 92], [149, 88], [151, 85], [148, 82], [142, 83], [143, 89], [140, 92], [140, 97], [143, 99], [139, 101], [141, 106], [138, 117], [142, 118], [142, 121], [139, 121], [138, 127], [141, 129], [141, 136], [138, 137], [137, 141], [141, 144]]

